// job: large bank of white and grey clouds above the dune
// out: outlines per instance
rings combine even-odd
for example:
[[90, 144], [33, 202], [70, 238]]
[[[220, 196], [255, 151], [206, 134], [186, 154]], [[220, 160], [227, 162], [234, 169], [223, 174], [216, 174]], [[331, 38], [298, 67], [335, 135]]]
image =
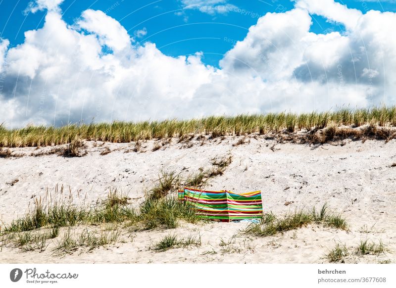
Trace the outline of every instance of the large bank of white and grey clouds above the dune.
[[[60, 0], [40, 2], [48, 10], [43, 28], [25, 32], [17, 47], [0, 39], [0, 123], [8, 127], [395, 103], [392, 12], [297, 0], [259, 18], [218, 69], [203, 64], [201, 52], [170, 57], [153, 43], [137, 45], [102, 11], [67, 25], [48, 4]], [[345, 33], [309, 32], [310, 14], [345, 25]]]

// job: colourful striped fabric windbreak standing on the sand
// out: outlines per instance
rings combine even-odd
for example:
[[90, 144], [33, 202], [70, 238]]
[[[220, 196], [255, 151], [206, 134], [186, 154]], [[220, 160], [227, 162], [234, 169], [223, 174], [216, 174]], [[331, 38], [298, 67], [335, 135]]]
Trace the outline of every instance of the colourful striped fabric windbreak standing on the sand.
[[206, 219], [229, 222], [262, 217], [261, 192], [237, 194], [231, 191], [202, 191], [185, 188], [178, 193], [180, 200], [191, 203]]

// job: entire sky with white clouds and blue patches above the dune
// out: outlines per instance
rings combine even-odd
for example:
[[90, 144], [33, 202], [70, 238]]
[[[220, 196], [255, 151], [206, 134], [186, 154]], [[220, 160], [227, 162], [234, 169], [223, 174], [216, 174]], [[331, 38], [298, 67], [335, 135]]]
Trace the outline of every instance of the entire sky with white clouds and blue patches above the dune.
[[0, 123], [396, 104], [395, 0], [0, 0]]

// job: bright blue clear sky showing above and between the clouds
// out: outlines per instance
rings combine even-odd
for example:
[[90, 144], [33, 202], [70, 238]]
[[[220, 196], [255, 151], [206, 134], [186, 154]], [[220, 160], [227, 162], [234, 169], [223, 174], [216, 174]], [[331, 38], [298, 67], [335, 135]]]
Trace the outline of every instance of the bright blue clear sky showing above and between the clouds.
[[[1, 37], [11, 45], [24, 41], [24, 32], [41, 28], [46, 11], [25, 12], [31, 0], [0, 0]], [[367, 10], [396, 11], [392, 1], [345, 0], [338, 2], [365, 13]], [[181, 0], [65, 0], [60, 7], [63, 19], [73, 24], [82, 11], [91, 8], [104, 11], [118, 20], [133, 37], [139, 30], [147, 34], [138, 41], [150, 41], [163, 53], [171, 56], [188, 55], [202, 51], [202, 61], [218, 66], [223, 54], [235, 41], [243, 40], [248, 28], [267, 12], [284, 12], [294, 6], [290, 0], [229, 0], [227, 4], [238, 7], [227, 13], [201, 12], [186, 9]], [[219, 3], [222, 5], [225, 3]], [[241, 9], [241, 10], [240, 10]], [[343, 31], [342, 24], [331, 23], [319, 15], [313, 16], [311, 31], [328, 33]]]

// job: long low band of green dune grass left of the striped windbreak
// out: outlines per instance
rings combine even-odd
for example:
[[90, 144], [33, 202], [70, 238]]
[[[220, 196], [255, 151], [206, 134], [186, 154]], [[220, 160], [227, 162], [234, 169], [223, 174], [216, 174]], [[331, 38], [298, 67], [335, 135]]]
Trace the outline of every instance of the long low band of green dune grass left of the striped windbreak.
[[50, 238], [55, 238], [59, 227], [127, 222], [127, 226], [136, 225], [140, 227], [139, 230], [157, 227], [171, 229], [178, 226], [179, 219], [191, 223], [199, 220], [193, 208], [188, 203], [179, 201], [174, 195], [147, 199], [140, 207], [125, 202], [124, 196], [116, 197], [118, 196], [109, 193], [106, 200], [93, 207], [68, 203], [51, 203], [46, 206], [42, 201], [36, 201], [32, 211], [13, 220], [9, 225], [4, 225], [0, 232], [9, 234], [51, 228]]

